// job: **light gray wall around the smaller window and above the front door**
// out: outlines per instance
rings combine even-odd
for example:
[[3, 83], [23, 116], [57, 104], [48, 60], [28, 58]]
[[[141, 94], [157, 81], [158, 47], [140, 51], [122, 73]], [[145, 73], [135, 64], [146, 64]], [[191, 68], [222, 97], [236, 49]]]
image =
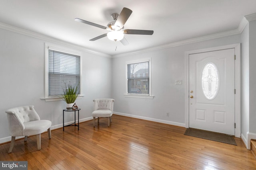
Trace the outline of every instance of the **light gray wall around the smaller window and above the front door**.
[[[186, 51], [240, 43], [240, 34], [178, 47], [127, 55], [113, 59], [114, 111], [120, 115], [184, 126], [186, 94]], [[154, 99], [126, 98], [126, 61], [151, 57]], [[182, 80], [182, 85], [175, 85]], [[166, 116], [170, 112], [170, 116]]]

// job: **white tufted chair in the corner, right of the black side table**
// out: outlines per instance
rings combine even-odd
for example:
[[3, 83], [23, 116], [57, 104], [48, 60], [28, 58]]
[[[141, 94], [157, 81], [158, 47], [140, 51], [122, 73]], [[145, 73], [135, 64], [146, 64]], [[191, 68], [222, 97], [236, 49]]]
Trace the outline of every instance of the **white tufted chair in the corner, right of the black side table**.
[[95, 127], [95, 117], [108, 117], [108, 126], [110, 125], [111, 116], [113, 114], [114, 99], [94, 99], [94, 111], [92, 112], [93, 127]]

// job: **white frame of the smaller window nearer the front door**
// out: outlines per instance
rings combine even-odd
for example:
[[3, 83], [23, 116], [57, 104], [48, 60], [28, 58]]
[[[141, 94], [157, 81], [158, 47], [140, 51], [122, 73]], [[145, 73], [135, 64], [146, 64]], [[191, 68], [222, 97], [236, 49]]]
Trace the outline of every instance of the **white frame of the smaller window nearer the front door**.
[[[136, 63], [144, 63], [149, 62], [149, 94], [134, 94], [134, 93], [128, 93], [128, 64], [136, 64]], [[128, 98], [147, 98], [147, 99], [153, 99], [154, 96], [152, 96], [152, 78], [151, 78], [151, 58], [146, 59], [140, 59], [140, 60], [134, 60], [134, 61], [127, 61], [125, 64], [125, 75], [126, 75], [126, 92], [124, 94], [124, 97]]]

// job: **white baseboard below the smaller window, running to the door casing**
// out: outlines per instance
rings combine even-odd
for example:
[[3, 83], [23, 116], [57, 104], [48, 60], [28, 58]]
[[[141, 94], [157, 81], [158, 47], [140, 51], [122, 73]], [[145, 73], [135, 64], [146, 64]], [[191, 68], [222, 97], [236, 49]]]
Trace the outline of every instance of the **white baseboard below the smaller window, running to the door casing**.
[[168, 124], [168, 125], [175, 125], [175, 126], [185, 127], [185, 123], [178, 123], [178, 122], [173, 122], [173, 121], [166, 121], [166, 120], [161, 120], [161, 119], [154, 119], [154, 118], [150, 118], [150, 117], [130, 115], [130, 114], [119, 113], [119, 112], [114, 112], [114, 114], [115, 115], [126, 116], [126, 117], [133, 117], [133, 118], [137, 118], [137, 119], [148, 120], [148, 121], [155, 121], [155, 122], [158, 122], [158, 123], [164, 123], [164, 124]]

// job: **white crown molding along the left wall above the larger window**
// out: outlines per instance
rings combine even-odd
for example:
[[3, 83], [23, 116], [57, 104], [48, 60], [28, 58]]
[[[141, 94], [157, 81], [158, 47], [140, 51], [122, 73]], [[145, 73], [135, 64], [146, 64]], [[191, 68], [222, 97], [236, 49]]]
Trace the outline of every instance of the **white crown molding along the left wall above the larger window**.
[[88, 53], [100, 55], [100, 56], [103, 56], [103, 57], [112, 58], [111, 55], [107, 55], [105, 53], [101, 53], [101, 52], [98, 52], [98, 51], [87, 49], [87, 48], [82, 47], [80, 45], [75, 45], [75, 44], [72, 44], [72, 43], [68, 43], [68, 42], [62, 41], [60, 39], [52, 38], [52, 37], [42, 35], [40, 33], [35, 33], [35, 32], [32, 32], [32, 31], [28, 31], [26, 29], [21, 29], [21, 28], [18, 28], [18, 27], [14, 27], [12, 25], [8, 25], [8, 24], [5, 24], [5, 23], [0, 23], [0, 28], [6, 29], [6, 30], [12, 31], [12, 32], [20, 33], [20, 34], [23, 34], [23, 35], [27, 35], [27, 36], [30, 36], [30, 37], [34, 37], [34, 38], [37, 38], [37, 39], [41, 39], [41, 40], [44, 40], [44, 41], [48, 41], [50, 43], [56, 43], [56, 44], [59, 44], [59, 45], [68, 46], [68, 47], [78, 49], [78, 50], [81, 50], [81, 51], [85, 51], [85, 52], [88, 52]]

